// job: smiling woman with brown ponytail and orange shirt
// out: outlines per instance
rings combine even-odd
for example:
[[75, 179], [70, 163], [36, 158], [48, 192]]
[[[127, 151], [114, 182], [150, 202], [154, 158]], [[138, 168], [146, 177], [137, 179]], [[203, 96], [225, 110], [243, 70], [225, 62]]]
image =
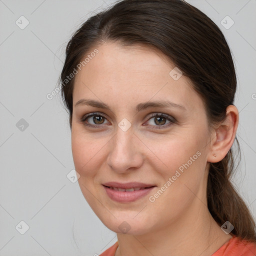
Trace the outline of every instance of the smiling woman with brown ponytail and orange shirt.
[[234, 65], [205, 14], [183, 0], [120, 1], [74, 33], [60, 81], [79, 186], [117, 233], [101, 255], [256, 254], [230, 183]]

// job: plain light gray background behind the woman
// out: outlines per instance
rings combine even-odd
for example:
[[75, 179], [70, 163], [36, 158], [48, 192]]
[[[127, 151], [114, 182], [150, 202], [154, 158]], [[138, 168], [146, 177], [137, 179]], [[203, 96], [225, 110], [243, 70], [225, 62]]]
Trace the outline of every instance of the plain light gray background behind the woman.
[[[116, 241], [66, 176], [74, 168], [68, 115], [60, 93], [46, 98], [71, 34], [113, 2], [0, 0], [0, 255], [92, 256]], [[256, 216], [256, 0], [188, 2], [220, 27], [234, 57], [242, 161], [233, 183]]]

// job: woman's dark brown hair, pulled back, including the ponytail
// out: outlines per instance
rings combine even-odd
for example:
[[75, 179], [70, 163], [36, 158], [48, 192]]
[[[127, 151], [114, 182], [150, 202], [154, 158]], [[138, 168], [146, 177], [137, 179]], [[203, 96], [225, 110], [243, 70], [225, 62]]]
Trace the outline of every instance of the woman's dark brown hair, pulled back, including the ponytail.
[[[233, 104], [236, 74], [231, 52], [209, 17], [184, 0], [122, 0], [91, 16], [66, 46], [60, 82], [70, 128], [74, 78], [68, 84], [64, 80], [85, 54], [106, 41], [142, 43], [161, 50], [192, 81], [210, 124], [223, 120], [226, 107]], [[234, 226], [232, 234], [256, 241], [254, 219], [230, 181], [234, 170], [232, 148], [221, 161], [210, 163], [207, 206], [219, 225], [228, 220]]]

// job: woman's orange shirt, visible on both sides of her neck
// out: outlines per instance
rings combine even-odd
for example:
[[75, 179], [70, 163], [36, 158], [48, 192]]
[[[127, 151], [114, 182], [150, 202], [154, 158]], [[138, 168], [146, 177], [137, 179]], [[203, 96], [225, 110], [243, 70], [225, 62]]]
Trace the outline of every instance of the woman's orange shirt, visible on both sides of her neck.
[[[99, 256], [114, 256], [118, 247], [116, 241], [111, 247], [106, 249]], [[211, 256], [255, 256], [256, 243], [240, 240], [237, 236], [230, 238], [220, 248], [218, 248]]]

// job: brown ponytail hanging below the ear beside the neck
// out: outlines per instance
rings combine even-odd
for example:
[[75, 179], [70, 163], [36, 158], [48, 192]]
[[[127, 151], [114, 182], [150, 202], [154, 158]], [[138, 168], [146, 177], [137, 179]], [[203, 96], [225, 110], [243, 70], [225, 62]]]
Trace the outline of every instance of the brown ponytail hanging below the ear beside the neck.
[[[240, 156], [239, 142], [237, 138], [235, 140]], [[256, 242], [255, 221], [230, 181], [233, 171], [233, 150], [230, 148], [221, 161], [210, 165], [207, 181], [208, 209], [219, 225], [229, 221], [234, 226], [232, 234], [241, 239]]]

